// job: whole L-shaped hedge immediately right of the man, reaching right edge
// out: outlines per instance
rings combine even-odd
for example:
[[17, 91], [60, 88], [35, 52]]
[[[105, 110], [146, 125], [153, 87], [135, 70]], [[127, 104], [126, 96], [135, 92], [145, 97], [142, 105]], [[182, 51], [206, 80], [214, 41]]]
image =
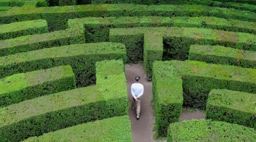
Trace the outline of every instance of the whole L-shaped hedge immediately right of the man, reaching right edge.
[[155, 61], [153, 99], [157, 136], [166, 136], [169, 123], [178, 121], [181, 105], [204, 109], [212, 89], [226, 88], [256, 94], [255, 73], [253, 68], [199, 61]]

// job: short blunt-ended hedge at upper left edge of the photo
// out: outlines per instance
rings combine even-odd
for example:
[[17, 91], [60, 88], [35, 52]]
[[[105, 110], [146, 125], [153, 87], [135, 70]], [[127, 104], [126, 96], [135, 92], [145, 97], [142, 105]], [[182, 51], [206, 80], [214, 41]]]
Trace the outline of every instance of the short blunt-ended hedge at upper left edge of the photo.
[[21, 21], [0, 25], [0, 40], [45, 32], [48, 32], [47, 21], [45, 20]]

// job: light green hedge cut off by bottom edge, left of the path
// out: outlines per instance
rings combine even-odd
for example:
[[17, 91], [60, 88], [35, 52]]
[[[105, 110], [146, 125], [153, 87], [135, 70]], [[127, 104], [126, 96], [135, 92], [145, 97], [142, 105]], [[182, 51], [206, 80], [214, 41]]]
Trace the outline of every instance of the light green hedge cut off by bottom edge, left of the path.
[[111, 117], [95, 122], [30, 137], [34, 141], [123, 141], [132, 142], [131, 123], [128, 116]]

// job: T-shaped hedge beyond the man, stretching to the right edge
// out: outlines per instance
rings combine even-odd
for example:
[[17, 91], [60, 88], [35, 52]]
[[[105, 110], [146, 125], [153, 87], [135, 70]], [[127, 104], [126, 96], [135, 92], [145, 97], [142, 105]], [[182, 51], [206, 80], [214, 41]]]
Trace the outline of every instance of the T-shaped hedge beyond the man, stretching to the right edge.
[[[144, 36], [143, 36], [144, 35]], [[140, 38], [138, 38], [140, 37]], [[152, 63], [157, 60], [185, 60], [189, 46], [222, 45], [242, 50], [256, 51], [256, 36], [240, 32], [226, 32], [204, 28], [135, 27], [110, 29], [110, 41], [123, 43], [130, 51], [139, 52], [143, 58], [146, 74], [152, 76]], [[139, 44], [138, 44], [139, 43]], [[142, 45], [142, 46], [141, 46]], [[141, 52], [144, 48], [144, 51]], [[128, 59], [133, 53], [127, 50]]]

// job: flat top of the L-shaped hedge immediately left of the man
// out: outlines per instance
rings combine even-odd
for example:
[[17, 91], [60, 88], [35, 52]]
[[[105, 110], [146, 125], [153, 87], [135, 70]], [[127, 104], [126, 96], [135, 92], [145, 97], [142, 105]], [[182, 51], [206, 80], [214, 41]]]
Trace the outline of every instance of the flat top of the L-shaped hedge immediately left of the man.
[[[109, 68], [119, 72], [106, 75]], [[78, 107], [97, 101], [108, 99], [126, 98], [126, 79], [124, 76], [124, 65], [121, 60], [103, 61], [97, 63], [97, 85], [76, 88], [64, 92], [58, 92], [48, 96], [36, 97], [21, 103], [0, 108], [0, 127], [10, 125], [23, 119], [54, 112], [71, 107]], [[121, 72], [122, 70], [122, 72]], [[104, 72], [106, 71], [106, 72]]]

